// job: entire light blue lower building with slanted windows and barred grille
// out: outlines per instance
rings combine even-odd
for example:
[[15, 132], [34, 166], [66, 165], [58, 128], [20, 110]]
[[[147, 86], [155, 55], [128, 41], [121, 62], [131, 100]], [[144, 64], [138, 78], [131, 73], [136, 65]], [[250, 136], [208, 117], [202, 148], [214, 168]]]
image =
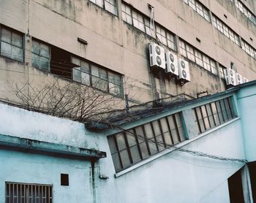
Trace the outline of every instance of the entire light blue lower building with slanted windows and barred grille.
[[0, 202], [254, 202], [255, 85], [111, 126], [1, 103]]

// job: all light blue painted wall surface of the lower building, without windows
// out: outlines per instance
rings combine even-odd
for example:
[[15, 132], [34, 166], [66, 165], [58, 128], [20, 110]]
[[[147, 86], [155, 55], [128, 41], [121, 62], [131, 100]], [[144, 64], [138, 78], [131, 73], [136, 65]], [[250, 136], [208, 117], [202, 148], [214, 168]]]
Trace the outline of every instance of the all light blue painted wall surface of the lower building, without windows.
[[[244, 166], [240, 162], [219, 161], [173, 151], [148, 164], [141, 162], [142, 166], [115, 177], [107, 131], [91, 132], [83, 123], [4, 104], [0, 104], [0, 114], [0, 134], [94, 148], [107, 153], [107, 158], [99, 159], [96, 163], [93, 190], [90, 161], [1, 150], [0, 161], [4, 163], [4, 169], [1, 168], [0, 173], [0, 196], [4, 195], [4, 182], [14, 181], [53, 184], [55, 203], [229, 202], [227, 178]], [[147, 119], [143, 122], [147, 122]], [[140, 123], [141, 120], [137, 124]], [[243, 131], [241, 119], [236, 118], [200, 136], [191, 134], [192, 139], [186, 141], [187, 145], [183, 148], [214, 156], [245, 158]], [[69, 187], [60, 186], [60, 173], [69, 174]], [[99, 179], [99, 174], [109, 179]]]

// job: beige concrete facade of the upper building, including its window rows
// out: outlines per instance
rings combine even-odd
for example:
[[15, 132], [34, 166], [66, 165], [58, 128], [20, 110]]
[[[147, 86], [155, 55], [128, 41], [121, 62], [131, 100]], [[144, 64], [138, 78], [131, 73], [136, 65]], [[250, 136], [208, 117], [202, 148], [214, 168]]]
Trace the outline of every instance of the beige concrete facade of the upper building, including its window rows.
[[[1, 98], [15, 100], [8, 91], [13, 83], [43, 86], [56, 78], [93, 87], [97, 78], [105, 84], [98, 89], [127, 94], [130, 105], [225, 91], [230, 63], [255, 79], [254, 13], [254, 1], [240, 0], [3, 0]], [[155, 73], [150, 42], [188, 61], [191, 81], [181, 86], [164, 71]]]

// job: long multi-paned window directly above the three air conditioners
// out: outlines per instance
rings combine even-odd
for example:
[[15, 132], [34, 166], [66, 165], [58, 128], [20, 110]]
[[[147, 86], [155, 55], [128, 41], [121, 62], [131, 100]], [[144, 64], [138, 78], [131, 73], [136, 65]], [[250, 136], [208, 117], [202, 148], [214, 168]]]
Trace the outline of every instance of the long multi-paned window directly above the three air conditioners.
[[121, 7], [124, 22], [138, 28], [140, 31], [143, 31], [154, 39], [159, 39], [163, 45], [169, 47], [170, 49], [176, 50], [174, 34], [157, 23], [155, 23], [155, 27], [151, 26], [150, 18], [140, 14], [137, 10], [129, 7], [129, 5], [122, 3]]

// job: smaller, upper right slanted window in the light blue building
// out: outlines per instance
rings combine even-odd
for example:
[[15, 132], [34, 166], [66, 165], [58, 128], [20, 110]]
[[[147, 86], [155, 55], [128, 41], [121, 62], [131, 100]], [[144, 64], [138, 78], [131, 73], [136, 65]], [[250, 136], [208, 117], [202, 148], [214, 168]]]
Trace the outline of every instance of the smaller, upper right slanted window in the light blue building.
[[231, 97], [194, 109], [198, 134], [236, 118]]

